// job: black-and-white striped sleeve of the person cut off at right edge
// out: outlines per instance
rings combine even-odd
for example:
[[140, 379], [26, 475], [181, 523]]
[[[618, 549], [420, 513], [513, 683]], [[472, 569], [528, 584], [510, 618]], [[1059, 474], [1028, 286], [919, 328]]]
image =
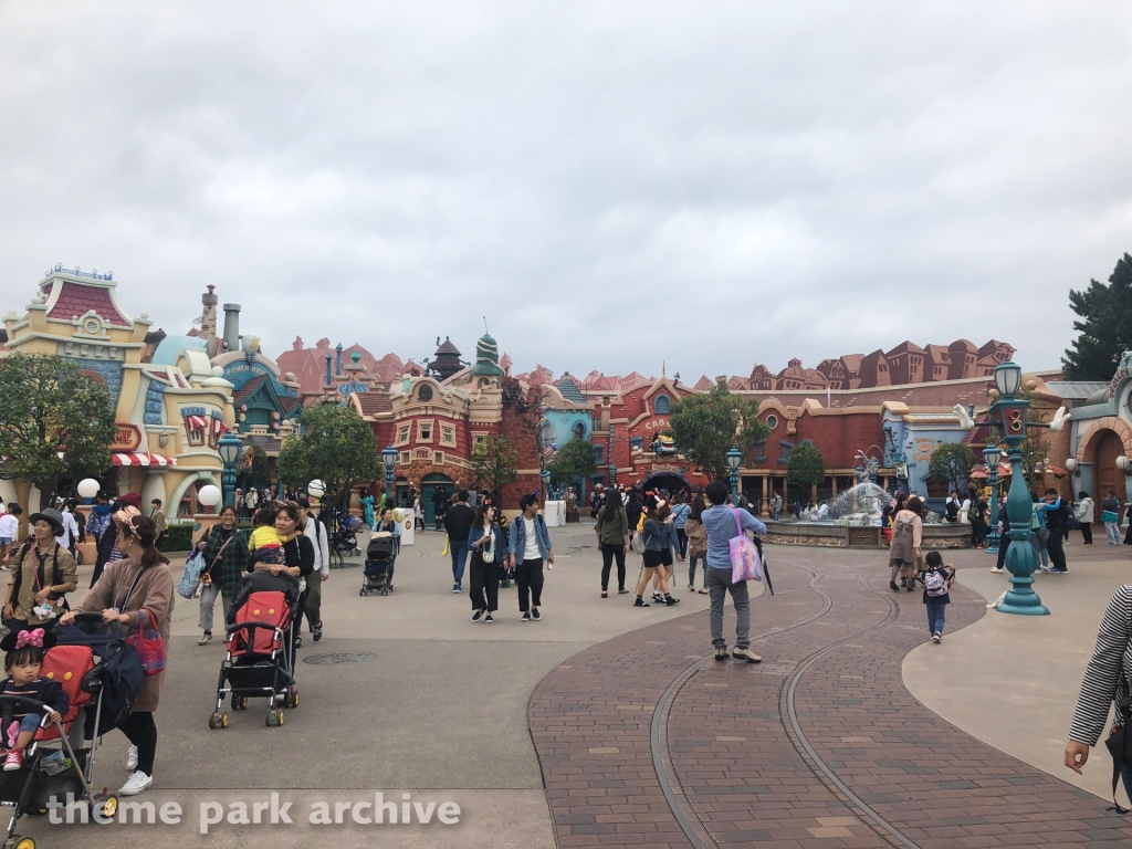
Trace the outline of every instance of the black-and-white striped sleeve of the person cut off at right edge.
[[1115, 592], [1100, 621], [1097, 648], [1084, 670], [1081, 695], [1073, 711], [1071, 740], [1097, 745], [1122, 675], [1124, 686], [1121, 689], [1127, 693], [1132, 685], [1132, 584], [1124, 584]]

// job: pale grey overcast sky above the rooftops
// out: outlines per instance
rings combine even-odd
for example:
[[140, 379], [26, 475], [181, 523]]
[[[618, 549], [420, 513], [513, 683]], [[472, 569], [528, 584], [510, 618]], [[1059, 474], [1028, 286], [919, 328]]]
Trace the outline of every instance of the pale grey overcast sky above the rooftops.
[[1127, 2], [0, 2], [0, 314], [694, 379], [994, 336], [1132, 250]]

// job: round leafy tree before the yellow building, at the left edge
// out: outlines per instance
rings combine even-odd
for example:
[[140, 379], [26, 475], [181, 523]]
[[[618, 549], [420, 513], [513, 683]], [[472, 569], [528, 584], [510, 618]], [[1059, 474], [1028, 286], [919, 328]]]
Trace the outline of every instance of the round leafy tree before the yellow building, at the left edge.
[[46, 496], [65, 478], [97, 477], [110, 468], [115, 431], [110, 393], [74, 360], [0, 360], [0, 478], [31, 481]]

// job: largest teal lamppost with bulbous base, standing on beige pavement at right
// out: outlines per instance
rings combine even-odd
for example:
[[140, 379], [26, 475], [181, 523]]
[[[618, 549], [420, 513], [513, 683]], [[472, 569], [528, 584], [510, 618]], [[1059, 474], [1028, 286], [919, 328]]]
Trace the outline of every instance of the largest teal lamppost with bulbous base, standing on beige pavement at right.
[[1018, 389], [1022, 383], [1022, 369], [1007, 360], [994, 370], [994, 385], [998, 400], [990, 408], [990, 415], [1002, 417], [1003, 438], [1010, 452], [1010, 495], [1006, 497], [1006, 514], [1010, 516], [1010, 549], [1006, 551], [1006, 568], [1010, 569], [1011, 589], [998, 604], [1000, 614], [1022, 616], [1048, 616], [1049, 610], [1034, 592], [1034, 578], [1038, 558], [1030, 546], [1030, 517], [1034, 503], [1022, 475], [1021, 444], [1026, 440], [1026, 411], [1029, 401], [1019, 400]]

